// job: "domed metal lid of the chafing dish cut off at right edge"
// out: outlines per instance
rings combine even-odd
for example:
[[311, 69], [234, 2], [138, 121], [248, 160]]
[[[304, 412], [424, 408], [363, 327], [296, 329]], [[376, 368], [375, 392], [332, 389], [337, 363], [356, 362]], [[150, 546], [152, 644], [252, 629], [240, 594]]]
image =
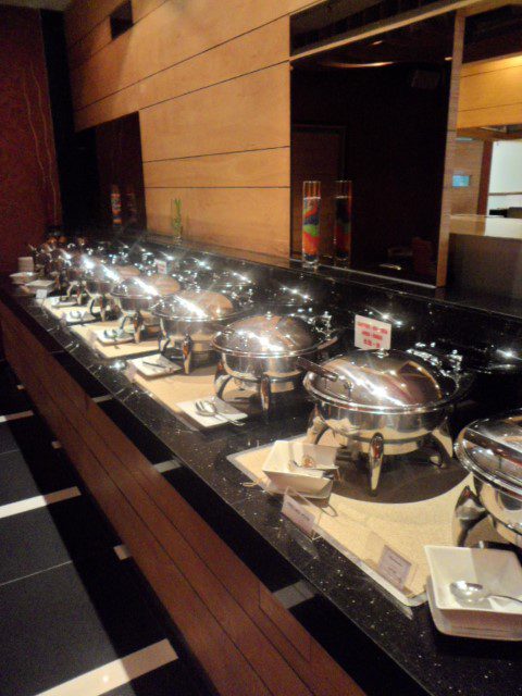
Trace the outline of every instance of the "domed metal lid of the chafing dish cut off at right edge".
[[522, 411], [474, 421], [461, 431], [455, 449], [475, 476], [522, 496]]

